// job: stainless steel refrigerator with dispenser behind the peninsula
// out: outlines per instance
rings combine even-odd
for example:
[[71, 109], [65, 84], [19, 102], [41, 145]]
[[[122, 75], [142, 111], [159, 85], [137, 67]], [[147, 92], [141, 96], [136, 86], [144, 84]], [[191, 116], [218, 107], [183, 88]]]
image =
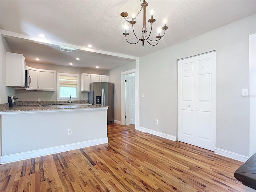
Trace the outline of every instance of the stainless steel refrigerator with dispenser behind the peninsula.
[[108, 122], [114, 122], [114, 83], [90, 83], [89, 103], [110, 106], [107, 109]]

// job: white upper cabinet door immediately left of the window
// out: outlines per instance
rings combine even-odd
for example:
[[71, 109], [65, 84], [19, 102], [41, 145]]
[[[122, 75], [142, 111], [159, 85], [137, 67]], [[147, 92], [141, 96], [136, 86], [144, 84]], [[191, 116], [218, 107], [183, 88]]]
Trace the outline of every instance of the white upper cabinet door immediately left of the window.
[[38, 90], [56, 89], [56, 71], [52, 70], [38, 70]]

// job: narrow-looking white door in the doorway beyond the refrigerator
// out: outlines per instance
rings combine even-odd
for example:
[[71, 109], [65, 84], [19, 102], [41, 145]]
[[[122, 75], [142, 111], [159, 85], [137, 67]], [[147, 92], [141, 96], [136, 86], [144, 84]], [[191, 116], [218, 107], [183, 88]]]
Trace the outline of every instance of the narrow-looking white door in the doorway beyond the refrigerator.
[[135, 124], [135, 76], [126, 76], [126, 125]]

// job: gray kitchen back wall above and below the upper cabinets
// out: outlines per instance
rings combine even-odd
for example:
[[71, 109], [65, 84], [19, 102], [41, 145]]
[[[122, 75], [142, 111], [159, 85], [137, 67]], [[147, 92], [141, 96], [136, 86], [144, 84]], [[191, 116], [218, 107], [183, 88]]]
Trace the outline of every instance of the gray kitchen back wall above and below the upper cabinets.
[[[56, 70], [60, 73], [90, 73], [90, 74], [101, 74], [107, 75], [107, 71], [104, 70], [93, 70], [69, 66], [59, 66], [51, 64], [41, 64], [41, 63], [31, 63], [26, 62], [27, 66], [38, 68], [38, 69], [47, 69], [47, 70]], [[56, 91], [32, 91], [32, 90], [16, 90], [16, 96], [18, 101], [37, 101], [38, 97], [41, 98], [41, 101], [56, 101]], [[88, 92], [80, 92], [80, 100], [88, 100]]]

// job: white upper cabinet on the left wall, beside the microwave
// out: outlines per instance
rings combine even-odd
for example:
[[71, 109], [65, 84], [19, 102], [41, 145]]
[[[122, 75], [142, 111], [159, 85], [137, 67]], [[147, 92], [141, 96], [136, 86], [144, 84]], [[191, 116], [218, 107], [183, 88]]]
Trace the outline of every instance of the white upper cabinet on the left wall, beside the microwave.
[[25, 85], [26, 62], [23, 54], [6, 52], [6, 86]]

